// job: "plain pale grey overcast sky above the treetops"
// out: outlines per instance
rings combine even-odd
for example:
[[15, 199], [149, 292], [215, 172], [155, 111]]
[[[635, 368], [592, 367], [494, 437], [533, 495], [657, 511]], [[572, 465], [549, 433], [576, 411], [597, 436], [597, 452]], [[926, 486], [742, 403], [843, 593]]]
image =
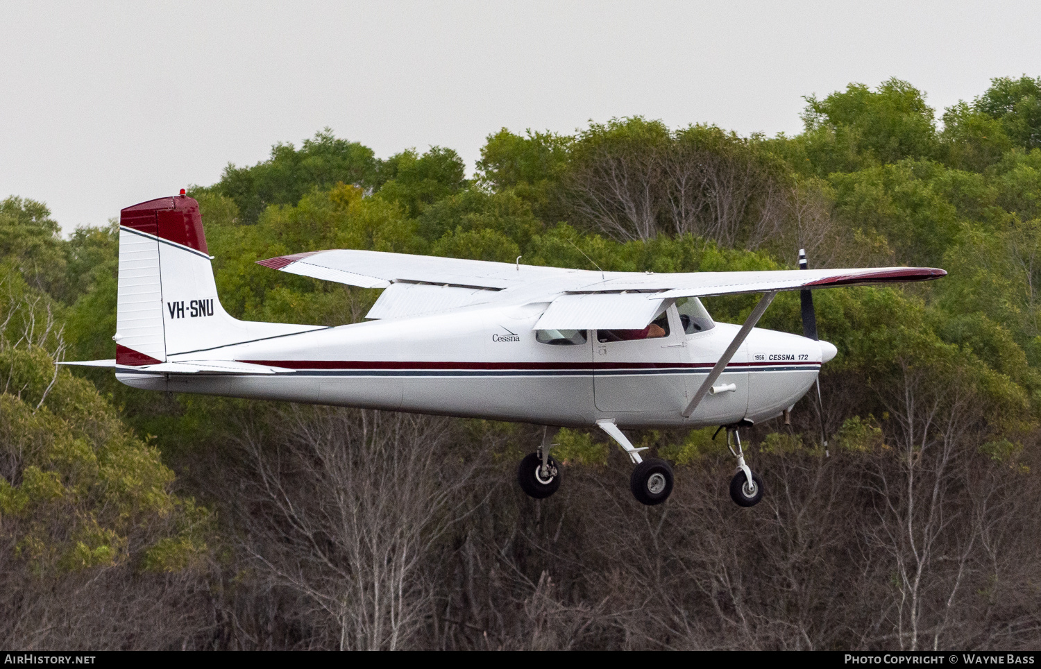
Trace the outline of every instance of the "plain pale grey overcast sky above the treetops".
[[67, 231], [329, 126], [386, 157], [642, 114], [797, 132], [896, 76], [942, 110], [1041, 75], [1039, 2], [0, 3], [0, 198]]

